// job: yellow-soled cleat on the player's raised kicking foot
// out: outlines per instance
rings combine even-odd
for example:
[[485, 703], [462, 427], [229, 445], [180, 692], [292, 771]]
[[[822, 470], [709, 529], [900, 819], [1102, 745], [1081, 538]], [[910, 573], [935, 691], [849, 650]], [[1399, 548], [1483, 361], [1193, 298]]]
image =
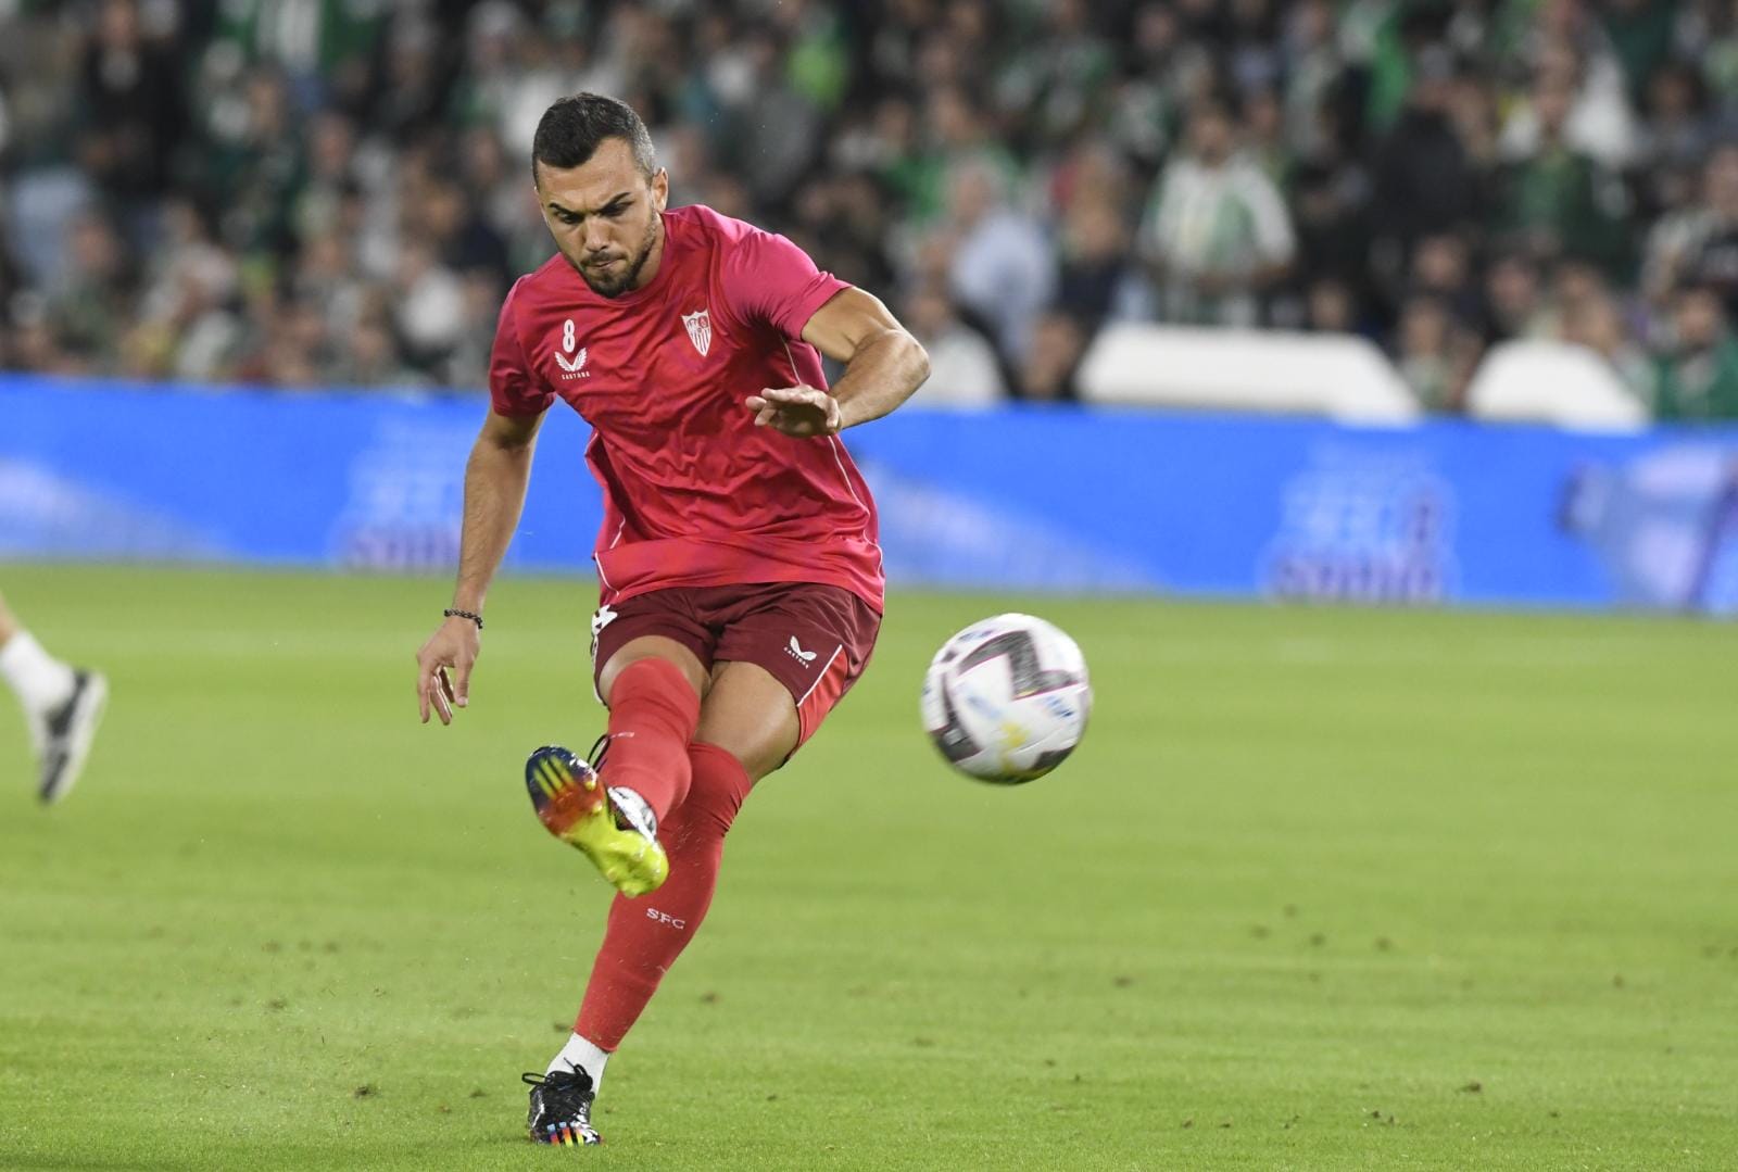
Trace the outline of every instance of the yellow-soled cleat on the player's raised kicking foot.
[[624, 896], [645, 896], [669, 876], [657, 840], [657, 816], [633, 789], [608, 789], [598, 770], [560, 744], [525, 760], [525, 788], [537, 819], [551, 835], [579, 847]]

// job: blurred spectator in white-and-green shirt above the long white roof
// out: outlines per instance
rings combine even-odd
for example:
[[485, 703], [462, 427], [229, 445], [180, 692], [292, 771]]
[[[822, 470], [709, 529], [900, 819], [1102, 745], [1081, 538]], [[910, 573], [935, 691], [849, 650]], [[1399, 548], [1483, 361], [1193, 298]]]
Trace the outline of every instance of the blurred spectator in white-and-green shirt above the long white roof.
[[1236, 153], [1224, 103], [1191, 111], [1189, 153], [1154, 186], [1142, 245], [1166, 322], [1255, 325], [1260, 296], [1286, 275], [1291, 217], [1272, 181]]

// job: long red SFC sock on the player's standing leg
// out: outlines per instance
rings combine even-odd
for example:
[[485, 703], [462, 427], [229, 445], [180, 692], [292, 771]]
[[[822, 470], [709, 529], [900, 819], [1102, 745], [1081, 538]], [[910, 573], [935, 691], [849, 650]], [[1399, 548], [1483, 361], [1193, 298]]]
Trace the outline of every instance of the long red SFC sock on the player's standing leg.
[[620, 1045], [700, 927], [718, 885], [725, 833], [753, 784], [742, 762], [716, 744], [690, 744], [688, 760], [693, 769], [688, 800], [659, 828], [669, 852], [669, 878], [650, 896], [615, 897], [574, 1022], [574, 1033], [605, 1050]]

